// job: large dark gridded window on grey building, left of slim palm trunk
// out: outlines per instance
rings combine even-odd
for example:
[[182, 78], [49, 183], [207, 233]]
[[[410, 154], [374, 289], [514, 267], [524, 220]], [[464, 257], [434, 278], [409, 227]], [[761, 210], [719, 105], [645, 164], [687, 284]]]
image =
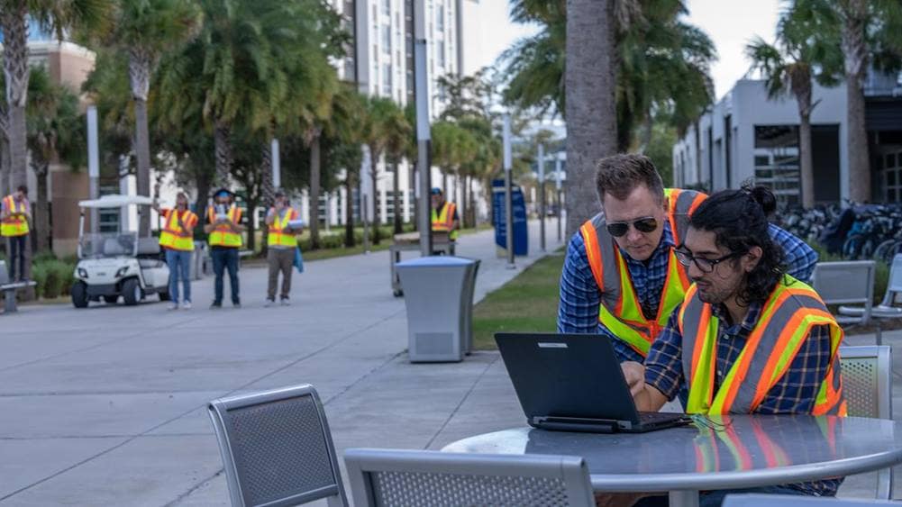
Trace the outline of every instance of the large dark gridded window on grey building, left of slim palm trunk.
[[796, 125], [755, 125], [755, 183], [773, 190], [778, 202], [798, 204], [801, 177]]

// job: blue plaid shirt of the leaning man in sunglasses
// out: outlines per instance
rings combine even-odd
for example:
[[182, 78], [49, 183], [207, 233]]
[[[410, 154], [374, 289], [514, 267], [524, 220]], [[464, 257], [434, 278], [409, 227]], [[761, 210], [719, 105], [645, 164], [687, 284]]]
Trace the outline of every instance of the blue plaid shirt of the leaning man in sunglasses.
[[[783, 247], [787, 272], [796, 280], [811, 280], [811, 274], [815, 271], [817, 263], [817, 253], [804, 241], [778, 226], [771, 225], [769, 233], [770, 237]], [[664, 289], [664, 281], [667, 279], [667, 261], [670, 249], [674, 246], [670, 224], [665, 221], [661, 242], [647, 262], [636, 261], [627, 253], [621, 252], [646, 318], [655, 318], [658, 315], [661, 290]], [[577, 232], [567, 246], [564, 271], [561, 273], [557, 332], [599, 333], [613, 337], [612, 333], [598, 322], [598, 308], [601, 302], [602, 293], [595, 283], [589, 260], [585, 255], [583, 235]], [[621, 340], [612, 340], [612, 344], [621, 361], [642, 362], [642, 356]]]

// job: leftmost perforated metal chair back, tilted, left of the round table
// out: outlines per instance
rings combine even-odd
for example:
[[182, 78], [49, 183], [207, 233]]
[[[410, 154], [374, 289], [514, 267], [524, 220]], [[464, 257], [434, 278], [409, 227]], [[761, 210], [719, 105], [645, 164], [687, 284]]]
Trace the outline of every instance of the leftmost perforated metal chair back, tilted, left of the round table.
[[347, 505], [317, 391], [300, 385], [210, 401], [232, 505]]

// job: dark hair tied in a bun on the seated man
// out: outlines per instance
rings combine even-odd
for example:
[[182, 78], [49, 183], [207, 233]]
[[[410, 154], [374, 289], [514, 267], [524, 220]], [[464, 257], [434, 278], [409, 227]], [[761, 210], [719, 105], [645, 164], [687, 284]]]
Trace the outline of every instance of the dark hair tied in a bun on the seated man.
[[774, 209], [776, 204], [777, 199], [767, 187], [743, 185], [739, 190], [715, 192], [689, 219], [689, 226], [713, 232], [717, 245], [730, 252], [748, 252], [753, 246], [761, 248], [761, 259], [748, 273], [737, 298], [743, 306], [767, 300], [786, 273], [783, 248], [768, 234], [765, 214], [765, 210]]

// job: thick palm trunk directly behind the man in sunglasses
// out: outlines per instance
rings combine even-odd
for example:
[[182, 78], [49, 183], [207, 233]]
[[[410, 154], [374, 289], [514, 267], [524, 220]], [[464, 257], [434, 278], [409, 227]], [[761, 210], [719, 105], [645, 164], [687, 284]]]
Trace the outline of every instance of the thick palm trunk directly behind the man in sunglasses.
[[598, 213], [594, 163], [617, 149], [616, 23], [612, 0], [568, 0], [566, 14], [566, 231]]

